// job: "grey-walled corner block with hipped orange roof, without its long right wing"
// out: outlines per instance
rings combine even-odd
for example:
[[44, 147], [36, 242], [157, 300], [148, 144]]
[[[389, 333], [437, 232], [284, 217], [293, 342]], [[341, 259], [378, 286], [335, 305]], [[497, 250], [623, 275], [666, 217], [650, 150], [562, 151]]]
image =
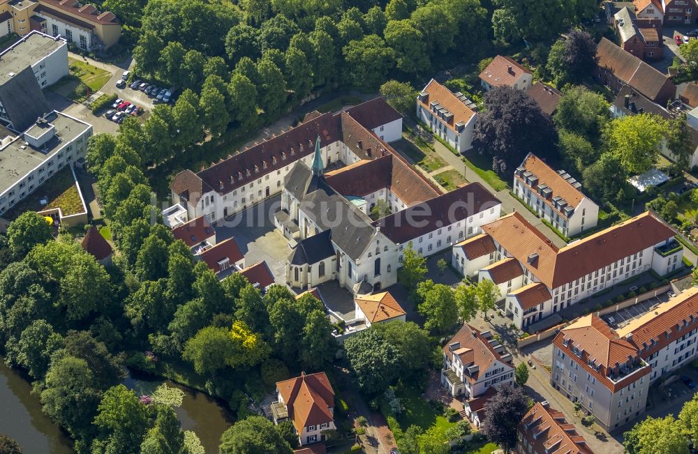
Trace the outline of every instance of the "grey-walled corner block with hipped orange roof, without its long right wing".
[[553, 340], [551, 385], [609, 431], [644, 414], [651, 370], [634, 345], [593, 314]]

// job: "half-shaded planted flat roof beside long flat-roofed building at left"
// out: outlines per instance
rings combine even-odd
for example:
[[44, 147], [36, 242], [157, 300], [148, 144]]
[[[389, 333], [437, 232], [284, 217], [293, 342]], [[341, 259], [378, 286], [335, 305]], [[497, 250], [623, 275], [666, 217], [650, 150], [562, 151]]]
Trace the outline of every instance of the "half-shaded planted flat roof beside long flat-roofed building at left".
[[[47, 198], [48, 204], [41, 206], [39, 200]], [[22, 199], [5, 215], [12, 220], [25, 211], [43, 211], [45, 209], [59, 208], [64, 216], [82, 213], [83, 207], [80, 195], [73, 180], [73, 174], [68, 167], [59, 170], [57, 174], [47, 179], [46, 182], [36, 188], [34, 192]]]

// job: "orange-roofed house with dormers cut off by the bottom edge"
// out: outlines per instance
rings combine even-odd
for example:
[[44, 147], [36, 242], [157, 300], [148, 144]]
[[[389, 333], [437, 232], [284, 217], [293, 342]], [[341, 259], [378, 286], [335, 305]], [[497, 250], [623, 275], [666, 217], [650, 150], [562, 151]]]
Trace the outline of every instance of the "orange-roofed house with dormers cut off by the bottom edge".
[[517, 429], [517, 453], [594, 454], [574, 424], [547, 401], [530, 407]]

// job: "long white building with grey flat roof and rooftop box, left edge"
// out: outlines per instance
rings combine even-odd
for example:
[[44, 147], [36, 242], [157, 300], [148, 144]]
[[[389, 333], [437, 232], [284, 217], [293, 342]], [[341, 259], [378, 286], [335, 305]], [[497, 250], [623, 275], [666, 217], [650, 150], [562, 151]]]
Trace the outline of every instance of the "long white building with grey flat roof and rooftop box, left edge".
[[17, 136], [0, 142], [0, 215], [34, 192], [59, 169], [84, 158], [92, 126], [51, 112]]

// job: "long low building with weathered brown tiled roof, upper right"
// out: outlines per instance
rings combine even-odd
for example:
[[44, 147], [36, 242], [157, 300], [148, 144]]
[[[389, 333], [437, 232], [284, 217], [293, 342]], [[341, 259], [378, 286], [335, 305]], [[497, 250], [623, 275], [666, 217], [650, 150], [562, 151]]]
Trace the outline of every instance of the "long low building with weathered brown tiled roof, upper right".
[[606, 38], [597, 46], [595, 77], [614, 91], [630, 85], [649, 100], [660, 105], [676, 97], [676, 85], [671, 78], [652, 68], [637, 56], [621, 49]]

